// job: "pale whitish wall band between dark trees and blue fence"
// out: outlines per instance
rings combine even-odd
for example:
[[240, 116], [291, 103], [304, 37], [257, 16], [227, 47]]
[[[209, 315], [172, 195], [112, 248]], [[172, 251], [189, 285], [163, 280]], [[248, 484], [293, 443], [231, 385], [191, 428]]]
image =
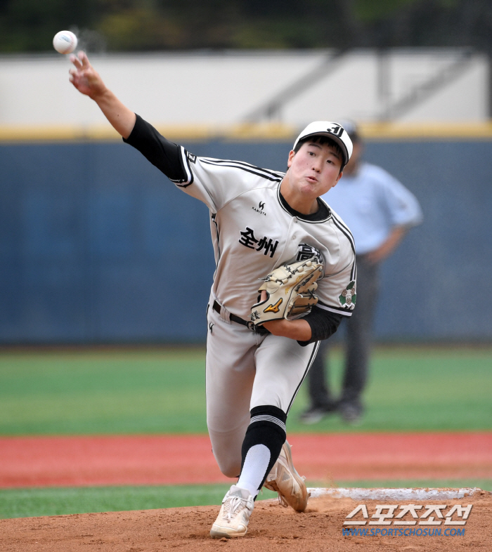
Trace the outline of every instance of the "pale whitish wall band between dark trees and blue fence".
[[[106, 83], [157, 126], [278, 121], [486, 121], [488, 58], [462, 48], [93, 55]], [[0, 126], [105, 124], [68, 81], [67, 56], [0, 56]]]

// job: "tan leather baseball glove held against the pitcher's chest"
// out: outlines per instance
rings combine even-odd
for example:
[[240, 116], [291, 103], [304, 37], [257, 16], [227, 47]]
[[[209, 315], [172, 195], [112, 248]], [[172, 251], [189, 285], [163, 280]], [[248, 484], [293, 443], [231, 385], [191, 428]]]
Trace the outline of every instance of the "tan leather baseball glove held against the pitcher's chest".
[[295, 320], [311, 311], [318, 296], [314, 294], [316, 280], [323, 276], [323, 265], [318, 257], [290, 265], [279, 266], [263, 278], [258, 291], [266, 291], [266, 299], [251, 308], [251, 321], [255, 327], [270, 320]]

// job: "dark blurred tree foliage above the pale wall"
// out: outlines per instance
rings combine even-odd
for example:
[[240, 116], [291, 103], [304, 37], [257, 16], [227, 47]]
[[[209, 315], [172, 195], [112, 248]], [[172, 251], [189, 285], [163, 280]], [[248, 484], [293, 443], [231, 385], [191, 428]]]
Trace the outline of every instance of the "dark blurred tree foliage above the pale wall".
[[492, 53], [492, 0], [0, 0], [0, 52], [473, 46]]

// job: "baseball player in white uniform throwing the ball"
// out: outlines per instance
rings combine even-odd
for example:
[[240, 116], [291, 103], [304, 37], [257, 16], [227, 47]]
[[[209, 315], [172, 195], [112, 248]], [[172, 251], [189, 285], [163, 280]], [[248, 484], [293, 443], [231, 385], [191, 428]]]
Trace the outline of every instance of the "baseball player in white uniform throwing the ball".
[[210, 534], [246, 534], [263, 485], [304, 511], [306, 485], [285, 423], [318, 341], [356, 303], [354, 239], [320, 199], [349, 161], [347, 132], [330, 121], [309, 124], [286, 173], [197, 157], [125, 107], [85, 53], [71, 60], [70, 81], [124, 142], [209, 209], [216, 271], [207, 307], [207, 426], [219, 468], [238, 478]]

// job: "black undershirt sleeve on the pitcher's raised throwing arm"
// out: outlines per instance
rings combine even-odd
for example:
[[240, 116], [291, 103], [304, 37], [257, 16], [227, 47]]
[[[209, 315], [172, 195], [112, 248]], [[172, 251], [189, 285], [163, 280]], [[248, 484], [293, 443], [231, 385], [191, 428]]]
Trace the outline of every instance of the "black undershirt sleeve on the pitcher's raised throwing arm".
[[135, 126], [130, 136], [127, 139], [123, 138], [123, 141], [141, 152], [169, 180], [173, 182], [186, 181], [186, 171], [183, 168], [179, 145], [164, 138], [140, 115], [136, 116]]

